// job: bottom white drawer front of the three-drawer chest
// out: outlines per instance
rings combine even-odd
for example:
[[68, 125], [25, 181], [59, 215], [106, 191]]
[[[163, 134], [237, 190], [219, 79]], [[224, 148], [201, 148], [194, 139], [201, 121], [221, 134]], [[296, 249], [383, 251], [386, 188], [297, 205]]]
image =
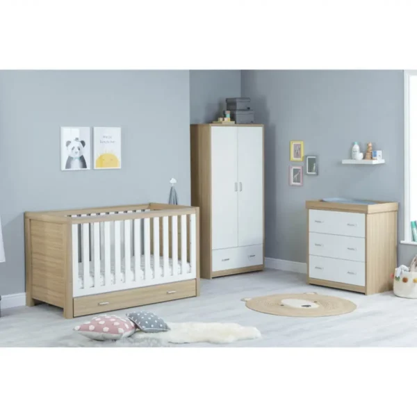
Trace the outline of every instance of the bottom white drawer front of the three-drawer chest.
[[365, 263], [310, 255], [309, 277], [365, 286]]

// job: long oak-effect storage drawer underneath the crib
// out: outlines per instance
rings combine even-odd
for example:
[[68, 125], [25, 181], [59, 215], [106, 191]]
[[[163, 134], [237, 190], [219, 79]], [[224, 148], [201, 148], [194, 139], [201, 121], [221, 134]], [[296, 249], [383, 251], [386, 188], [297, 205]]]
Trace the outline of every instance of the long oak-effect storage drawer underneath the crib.
[[172, 282], [74, 298], [74, 317], [154, 304], [197, 295], [196, 280]]

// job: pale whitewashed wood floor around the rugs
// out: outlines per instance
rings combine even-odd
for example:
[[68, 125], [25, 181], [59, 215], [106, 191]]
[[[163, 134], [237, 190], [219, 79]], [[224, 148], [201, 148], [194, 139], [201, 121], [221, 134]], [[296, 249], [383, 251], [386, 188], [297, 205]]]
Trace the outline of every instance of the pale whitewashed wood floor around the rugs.
[[[293, 318], [258, 313], [240, 301], [243, 297], [309, 291], [345, 297], [357, 304], [357, 310], [344, 316]], [[202, 280], [200, 297], [139, 308], [170, 322], [238, 322], [255, 326], [263, 334], [259, 340], [227, 345], [231, 347], [417, 346], [417, 300], [395, 297], [393, 293], [365, 296], [308, 286], [304, 275], [277, 270]], [[54, 346], [84, 321], [85, 317], [66, 320], [61, 309], [45, 304], [7, 309], [0, 318], [0, 346]]]

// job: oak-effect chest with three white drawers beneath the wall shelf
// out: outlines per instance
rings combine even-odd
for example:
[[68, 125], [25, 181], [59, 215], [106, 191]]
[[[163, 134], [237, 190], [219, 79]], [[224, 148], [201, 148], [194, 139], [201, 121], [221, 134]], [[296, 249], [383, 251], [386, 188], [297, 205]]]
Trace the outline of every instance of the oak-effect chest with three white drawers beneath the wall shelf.
[[366, 295], [392, 289], [398, 203], [306, 202], [309, 284]]

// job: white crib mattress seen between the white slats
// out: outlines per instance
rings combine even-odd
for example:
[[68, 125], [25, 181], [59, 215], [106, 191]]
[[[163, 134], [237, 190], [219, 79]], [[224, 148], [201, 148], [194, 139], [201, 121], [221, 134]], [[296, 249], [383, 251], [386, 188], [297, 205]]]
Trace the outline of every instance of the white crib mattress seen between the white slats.
[[[151, 255], [151, 268], [150, 268], [150, 274], [151, 277], [154, 277], [154, 255]], [[126, 265], [124, 264], [124, 259], [122, 259], [120, 263], [120, 277], [119, 279], [122, 279], [122, 281], [134, 281], [135, 279], [135, 256], [131, 257], [131, 263], [130, 263], [130, 270], [127, 271], [126, 274]], [[178, 260], [178, 267], [177, 271], [172, 271], [172, 259], [169, 259], [169, 268], [168, 268], [168, 274], [171, 275], [181, 275], [182, 272], [182, 263], [181, 260]], [[187, 262], [186, 265], [186, 273], [189, 274], [191, 272], [191, 265], [189, 262]], [[159, 258], [159, 276], [163, 277], [163, 256]], [[140, 256], [140, 279], [145, 279], [145, 256]], [[112, 284], [115, 284], [115, 263], [112, 260], [111, 262], [111, 282]], [[84, 287], [84, 265], [83, 263], [79, 263], [79, 284], [80, 288]], [[97, 284], [97, 283], [96, 283]], [[100, 285], [104, 285], [104, 260], [101, 260], [100, 262]], [[88, 287], [94, 287], [94, 262], [90, 262], [90, 279], [88, 279]]]

